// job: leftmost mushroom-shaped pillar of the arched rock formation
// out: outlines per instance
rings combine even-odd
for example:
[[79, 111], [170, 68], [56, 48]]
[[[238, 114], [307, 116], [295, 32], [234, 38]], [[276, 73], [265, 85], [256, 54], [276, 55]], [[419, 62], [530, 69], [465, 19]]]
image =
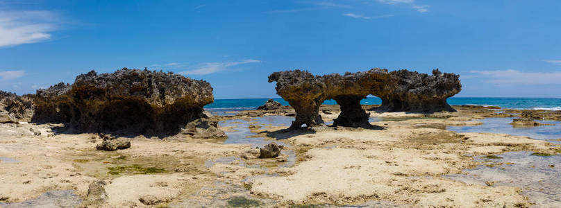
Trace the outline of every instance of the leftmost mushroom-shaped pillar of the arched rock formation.
[[308, 71], [279, 71], [269, 76], [269, 83], [276, 82], [276, 94], [287, 101], [296, 111], [296, 119], [290, 129], [325, 125], [319, 115], [319, 106], [326, 99], [326, 85], [320, 77]]

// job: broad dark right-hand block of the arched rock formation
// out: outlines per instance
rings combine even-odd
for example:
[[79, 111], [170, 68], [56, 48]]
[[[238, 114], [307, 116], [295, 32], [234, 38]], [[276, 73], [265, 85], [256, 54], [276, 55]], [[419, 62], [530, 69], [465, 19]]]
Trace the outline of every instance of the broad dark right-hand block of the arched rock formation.
[[372, 94], [382, 99], [378, 111], [383, 112], [440, 112], [455, 110], [446, 98], [460, 93], [460, 76], [433, 70], [433, 75], [417, 71], [399, 70], [390, 72], [392, 80], [384, 90]]

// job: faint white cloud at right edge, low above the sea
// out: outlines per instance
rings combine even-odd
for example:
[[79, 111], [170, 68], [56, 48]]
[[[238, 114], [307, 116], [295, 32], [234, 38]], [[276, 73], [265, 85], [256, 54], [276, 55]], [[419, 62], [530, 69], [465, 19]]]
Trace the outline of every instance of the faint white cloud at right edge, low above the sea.
[[561, 71], [554, 72], [524, 72], [513, 69], [495, 71], [471, 71], [479, 78], [487, 79], [486, 83], [542, 85], [561, 84]]

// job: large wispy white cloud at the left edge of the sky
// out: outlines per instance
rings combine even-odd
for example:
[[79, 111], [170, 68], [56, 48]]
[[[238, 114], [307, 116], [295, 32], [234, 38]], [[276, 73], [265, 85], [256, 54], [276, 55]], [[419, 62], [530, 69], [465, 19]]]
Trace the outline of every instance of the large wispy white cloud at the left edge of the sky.
[[55, 13], [43, 10], [0, 11], [0, 46], [15, 46], [51, 39]]

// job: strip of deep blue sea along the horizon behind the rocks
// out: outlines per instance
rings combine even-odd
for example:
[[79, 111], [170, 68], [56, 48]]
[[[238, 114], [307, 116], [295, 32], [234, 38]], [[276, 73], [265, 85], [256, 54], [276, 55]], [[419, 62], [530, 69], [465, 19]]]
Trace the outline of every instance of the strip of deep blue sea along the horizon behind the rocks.
[[[263, 105], [269, 98], [248, 98], [248, 99], [216, 99], [214, 103], [205, 106], [210, 112], [231, 112], [240, 110], [255, 110], [258, 106]], [[288, 102], [283, 98], [273, 98], [283, 105]], [[382, 100], [378, 97], [367, 97], [360, 101], [364, 105], [381, 104]], [[482, 105], [482, 106], [499, 106], [501, 108], [510, 109], [528, 109], [528, 110], [561, 110], [561, 98], [448, 98], [450, 105]], [[324, 102], [327, 105], [337, 104], [333, 100]]]

